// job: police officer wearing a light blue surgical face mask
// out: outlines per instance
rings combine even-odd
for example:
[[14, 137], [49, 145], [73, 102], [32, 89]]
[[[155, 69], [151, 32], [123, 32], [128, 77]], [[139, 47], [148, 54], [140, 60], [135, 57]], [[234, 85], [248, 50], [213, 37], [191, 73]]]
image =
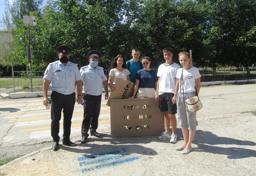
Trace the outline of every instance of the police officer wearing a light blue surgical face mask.
[[98, 66], [100, 52], [93, 50], [87, 54], [87, 58], [90, 64], [80, 69], [84, 83], [84, 120], [81, 129], [81, 143], [86, 143], [86, 139], [89, 136], [89, 128], [91, 136], [101, 136], [96, 129], [98, 128], [100, 115], [102, 84], [105, 89], [105, 99], [108, 99], [108, 79], [104, 75], [103, 68]]

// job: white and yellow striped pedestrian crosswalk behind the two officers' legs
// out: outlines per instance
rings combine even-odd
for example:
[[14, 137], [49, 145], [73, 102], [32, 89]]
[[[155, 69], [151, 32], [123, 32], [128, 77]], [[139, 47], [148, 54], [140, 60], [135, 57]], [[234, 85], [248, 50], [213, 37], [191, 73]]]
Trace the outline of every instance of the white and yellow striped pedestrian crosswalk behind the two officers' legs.
[[[101, 103], [99, 124], [105, 128], [110, 125], [110, 107], [105, 105], [106, 102]], [[18, 105], [18, 106], [17, 106]], [[37, 101], [28, 101], [17, 99], [15, 103], [0, 102], [0, 118], [8, 121], [9, 124], [3, 128], [9, 128], [14, 132], [12, 136], [3, 138], [4, 142], [12, 143], [17, 134], [27, 136], [28, 139], [50, 139], [51, 137], [51, 110], [45, 109], [42, 105], [42, 99]], [[2, 106], [4, 106], [2, 108]], [[82, 121], [84, 115], [84, 108], [81, 105], [75, 105], [72, 116], [72, 133], [79, 133], [81, 131]], [[60, 133], [63, 133], [63, 114], [61, 113]]]

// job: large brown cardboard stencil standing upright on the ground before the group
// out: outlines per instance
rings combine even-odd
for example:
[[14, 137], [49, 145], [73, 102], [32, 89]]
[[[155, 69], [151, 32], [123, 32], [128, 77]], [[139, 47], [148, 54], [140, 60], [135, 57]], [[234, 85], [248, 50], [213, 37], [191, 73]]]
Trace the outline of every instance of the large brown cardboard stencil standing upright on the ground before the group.
[[164, 131], [164, 113], [158, 102], [147, 99], [111, 99], [112, 137], [157, 136]]

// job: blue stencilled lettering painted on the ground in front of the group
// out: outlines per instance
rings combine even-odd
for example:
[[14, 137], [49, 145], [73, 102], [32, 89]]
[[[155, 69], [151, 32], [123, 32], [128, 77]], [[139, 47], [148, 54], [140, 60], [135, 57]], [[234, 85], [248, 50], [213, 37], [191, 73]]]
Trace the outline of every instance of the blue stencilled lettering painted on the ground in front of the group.
[[126, 151], [127, 150], [125, 150], [125, 149], [113, 150], [113, 151], [110, 151], [107, 153], [102, 153], [100, 155], [93, 155], [93, 156], [88, 156], [88, 157], [84, 157], [84, 156], [78, 157], [77, 160], [82, 161], [82, 162], [79, 162], [80, 166], [94, 165], [89, 168], [82, 169], [82, 172], [88, 172], [88, 171], [92, 171], [95, 169], [100, 169], [102, 167], [114, 166], [114, 165], [123, 164], [123, 163], [131, 162], [131, 161], [139, 159], [139, 157], [125, 158], [125, 156], [122, 154], [110, 156], [113, 154], [126, 152]]

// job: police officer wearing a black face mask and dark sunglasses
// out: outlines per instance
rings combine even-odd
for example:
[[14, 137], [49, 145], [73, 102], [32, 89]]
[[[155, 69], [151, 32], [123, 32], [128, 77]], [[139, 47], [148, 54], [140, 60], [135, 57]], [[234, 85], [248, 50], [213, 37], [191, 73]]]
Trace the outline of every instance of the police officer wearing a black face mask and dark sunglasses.
[[[47, 105], [47, 92], [50, 84], [51, 94], [51, 135], [53, 138], [52, 149], [56, 151], [60, 140], [60, 118], [63, 109], [63, 145], [76, 146], [70, 141], [71, 119], [75, 101], [82, 102], [82, 81], [79, 69], [75, 63], [69, 61], [72, 49], [61, 45], [56, 48], [59, 61], [52, 62], [44, 72], [43, 104]], [[75, 95], [75, 89], [77, 90]]]

